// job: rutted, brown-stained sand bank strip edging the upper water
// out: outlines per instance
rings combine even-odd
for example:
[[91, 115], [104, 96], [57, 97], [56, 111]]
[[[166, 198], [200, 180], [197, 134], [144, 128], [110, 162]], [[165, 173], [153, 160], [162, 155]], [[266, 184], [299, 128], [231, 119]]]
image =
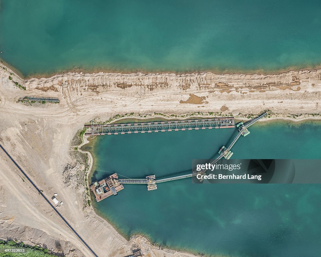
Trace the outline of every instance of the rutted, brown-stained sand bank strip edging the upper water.
[[316, 92], [320, 91], [321, 70], [290, 71], [275, 75], [213, 74], [211, 72], [190, 74], [120, 74], [66, 73], [50, 78], [29, 79], [23, 84], [30, 89], [41, 91], [69, 90], [75, 93], [91, 91], [131, 91], [136, 94], [168, 92], [218, 92], [224, 93], [265, 93], [267, 91]]

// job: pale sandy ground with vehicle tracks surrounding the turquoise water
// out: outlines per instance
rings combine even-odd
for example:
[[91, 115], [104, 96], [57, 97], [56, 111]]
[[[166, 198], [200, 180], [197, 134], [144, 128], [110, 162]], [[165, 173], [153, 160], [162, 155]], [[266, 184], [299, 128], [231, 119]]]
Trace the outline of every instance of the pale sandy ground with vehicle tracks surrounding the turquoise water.
[[[64, 202], [59, 211], [99, 256], [126, 256], [137, 245], [145, 256], [193, 255], [160, 249], [143, 237], [127, 241], [86, 205], [86, 188], [79, 184], [85, 165], [77, 162], [72, 142], [84, 123], [117, 114], [129, 118], [128, 113], [146, 119], [186, 118], [188, 113], [244, 118], [267, 109], [270, 118], [265, 120], [320, 119], [321, 70], [276, 75], [66, 73], [28, 80], [10, 73], [0, 67], [0, 142], [48, 198], [58, 193]], [[58, 97], [60, 103], [17, 102], [25, 95]], [[65, 183], [67, 164], [77, 185]], [[0, 172], [0, 238], [45, 244], [66, 256], [91, 256], [3, 152]]]

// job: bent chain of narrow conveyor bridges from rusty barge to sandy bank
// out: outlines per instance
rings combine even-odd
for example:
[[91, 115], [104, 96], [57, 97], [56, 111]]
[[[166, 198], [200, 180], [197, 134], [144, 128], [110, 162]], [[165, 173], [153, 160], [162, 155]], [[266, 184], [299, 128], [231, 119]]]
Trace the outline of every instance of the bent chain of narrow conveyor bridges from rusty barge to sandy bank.
[[[234, 144], [237, 142], [237, 140], [240, 138], [241, 135], [244, 134], [245, 130], [247, 130], [247, 128], [249, 128], [250, 126], [252, 126], [256, 121], [262, 119], [264, 116], [266, 116], [266, 111], [261, 113], [259, 116], [248, 120], [247, 122], [245, 122], [242, 126], [239, 127], [239, 133], [234, 137], [234, 139], [232, 140], [232, 142], [230, 143], [230, 145], [225, 149], [225, 151], [222, 151], [221, 154], [211, 163], [212, 165], [217, 163], [219, 160], [221, 160], [221, 158], [226, 157], [226, 153], [229, 152], [232, 148], [232, 146], [234, 146]], [[234, 122], [234, 119], [233, 119]], [[185, 174], [185, 175], [181, 175], [181, 176], [176, 176], [176, 177], [170, 177], [170, 178], [165, 178], [165, 179], [160, 179], [160, 180], [153, 180], [151, 182], [150, 179], [118, 179], [118, 181], [120, 183], [123, 184], [156, 184], [156, 183], [162, 183], [162, 182], [168, 182], [168, 181], [172, 181], [172, 180], [178, 180], [178, 179], [184, 179], [184, 178], [190, 178], [190, 177], [194, 177], [197, 176], [198, 174], [204, 175], [206, 173], [207, 169], [201, 170], [201, 171], [196, 171], [194, 170], [193, 173], [190, 174]], [[201, 180], [202, 181], [202, 180]]]

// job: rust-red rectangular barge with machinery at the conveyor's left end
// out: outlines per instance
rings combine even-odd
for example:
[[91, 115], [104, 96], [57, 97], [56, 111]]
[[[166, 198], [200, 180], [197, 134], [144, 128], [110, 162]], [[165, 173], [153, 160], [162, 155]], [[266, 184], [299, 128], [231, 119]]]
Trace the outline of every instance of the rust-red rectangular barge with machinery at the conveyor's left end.
[[119, 183], [118, 175], [114, 173], [107, 178], [93, 182], [90, 189], [94, 193], [96, 201], [99, 202], [108, 196], [117, 195], [117, 192], [123, 190], [124, 186]]

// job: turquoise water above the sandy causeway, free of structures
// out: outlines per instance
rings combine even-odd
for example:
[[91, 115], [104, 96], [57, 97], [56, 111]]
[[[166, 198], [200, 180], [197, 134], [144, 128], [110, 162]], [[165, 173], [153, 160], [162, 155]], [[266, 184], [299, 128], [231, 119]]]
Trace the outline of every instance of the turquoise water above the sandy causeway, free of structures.
[[318, 0], [1, 0], [0, 58], [24, 76], [313, 67], [320, 13]]

